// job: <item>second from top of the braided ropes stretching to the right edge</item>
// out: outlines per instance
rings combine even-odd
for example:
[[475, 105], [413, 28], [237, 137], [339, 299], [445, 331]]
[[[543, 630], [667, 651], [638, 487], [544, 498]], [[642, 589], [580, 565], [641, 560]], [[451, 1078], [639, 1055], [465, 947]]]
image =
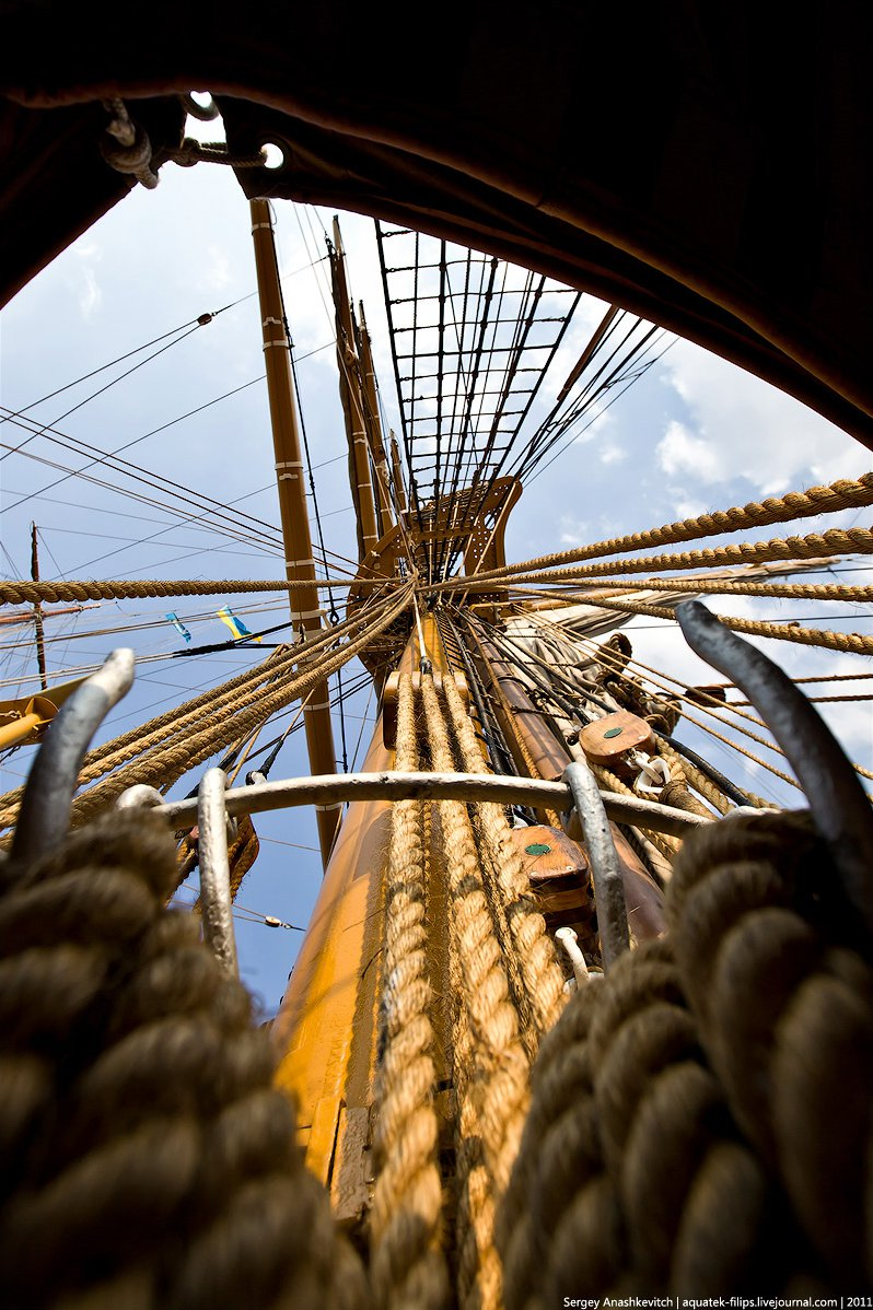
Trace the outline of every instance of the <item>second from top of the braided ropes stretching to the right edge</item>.
[[[573, 552], [570, 552], [573, 554]], [[665, 569], [716, 569], [720, 565], [756, 565], [772, 563], [777, 559], [818, 559], [826, 555], [842, 554], [873, 554], [873, 532], [868, 528], [828, 528], [827, 532], [810, 533], [806, 537], [775, 537], [771, 541], [743, 541], [739, 545], [709, 546], [704, 550], [683, 550], [671, 555], [644, 555], [641, 559], [613, 559], [602, 565], [587, 565], [585, 569], [568, 569], [543, 572], [527, 572], [524, 576], [514, 576], [513, 584], [531, 582], [570, 582], [587, 578], [600, 578], [604, 575], [623, 572], [638, 574], [651, 572]], [[523, 567], [540, 569], [553, 557], [543, 555], [539, 559], [530, 559]], [[582, 558], [586, 558], [585, 554]], [[520, 566], [507, 565], [509, 569]], [[452, 591], [475, 591], [481, 587], [488, 590], [488, 582], [493, 574], [476, 574], [469, 579], [452, 578], [446, 583], [434, 583], [422, 587], [422, 593], [442, 591], [451, 586]], [[502, 576], [502, 572], [499, 574]], [[493, 588], [492, 588], [493, 590]], [[566, 600], [566, 597], [564, 597]]]

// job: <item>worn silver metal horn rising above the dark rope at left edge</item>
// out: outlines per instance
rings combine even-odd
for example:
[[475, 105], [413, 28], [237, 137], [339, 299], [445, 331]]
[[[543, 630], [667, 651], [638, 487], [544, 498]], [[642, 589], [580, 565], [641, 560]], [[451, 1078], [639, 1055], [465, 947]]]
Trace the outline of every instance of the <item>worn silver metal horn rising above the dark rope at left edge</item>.
[[30, 769], [12, 841], [13, 859], [38, 859], [62, 845], [90, 739], [132, 683], [134, 652], [122, 647], [62, 706]]

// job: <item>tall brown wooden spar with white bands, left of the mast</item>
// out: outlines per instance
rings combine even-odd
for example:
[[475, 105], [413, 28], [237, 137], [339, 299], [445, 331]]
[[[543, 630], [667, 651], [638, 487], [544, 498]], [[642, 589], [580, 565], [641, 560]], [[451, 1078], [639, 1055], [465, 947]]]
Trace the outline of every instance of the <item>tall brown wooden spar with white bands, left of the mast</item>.
[[[303, 485], [303, 455], [294, 402], [290, 342], [286, 335], [282, 288], [275, 258], [273, 219], [267, 200], [252, 200], [252, 236], [258, 279], [258, 297], [263, 329], [263, 363], [270, 398], [273, 445], [284, 540], [284, 569], [288, 582], [312, 582], [312, 587], [290, 593], [291, 618], [301, 637], [324, 626], [324, 614], [315, 586], [315, 557], [312, 534]], [[313, 773], [336, 773], [336, 748], [330, 723], [330, 694], [328, 681], [319, 683], [304, 706], [303, 722], [307, 734], [309, 766]], [[342, 803], [316, 810], [321, 858], [326, 867], [330, 849], [340, 824]]]

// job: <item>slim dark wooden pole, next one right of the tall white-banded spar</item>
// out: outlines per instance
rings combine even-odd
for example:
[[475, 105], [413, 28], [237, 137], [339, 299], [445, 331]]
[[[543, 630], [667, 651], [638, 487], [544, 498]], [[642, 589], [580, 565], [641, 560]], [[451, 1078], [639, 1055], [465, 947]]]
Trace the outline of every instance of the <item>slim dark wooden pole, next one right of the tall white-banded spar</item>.
[[328, 242], [330, 272], [333, 282], [333, 301], [337, 310], [337, 362], [340, 365], [340, 397], [346, 417], [349, 434], [349, 453], [351, 472], [351, 498], [358, 512], [358, 533], [360, 558], [375, 550], [379, 541], [376, 506], [370, 474], [370, 440], [367, 432], [366, 397], [360, 379], [360, 360], [357, 350], [357, 333], [349, 287], [346, 283], [345, 255], [340, 223], [333, 220], [333, 241]]

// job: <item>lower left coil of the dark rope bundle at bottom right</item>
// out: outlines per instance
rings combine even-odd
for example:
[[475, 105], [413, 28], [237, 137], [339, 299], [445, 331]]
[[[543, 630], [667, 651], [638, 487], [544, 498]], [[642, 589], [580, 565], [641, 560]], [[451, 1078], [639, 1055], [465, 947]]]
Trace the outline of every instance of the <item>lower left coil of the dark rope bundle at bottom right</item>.
[[663, 942], [572, 1000], [534, 1070], [498, 1222], [509, 1310], [776, 1293], [802, 1268], [784, 1200], [701, 1057]]

